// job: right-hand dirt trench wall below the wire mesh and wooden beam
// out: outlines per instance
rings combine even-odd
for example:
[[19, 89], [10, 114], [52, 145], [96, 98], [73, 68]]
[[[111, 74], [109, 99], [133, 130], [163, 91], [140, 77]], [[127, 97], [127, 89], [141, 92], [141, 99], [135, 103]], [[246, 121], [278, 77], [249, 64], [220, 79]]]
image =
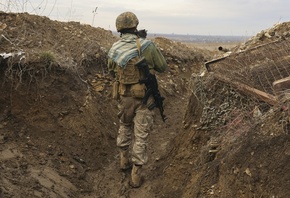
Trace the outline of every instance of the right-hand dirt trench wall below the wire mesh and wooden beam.
[[163, 169], [162, 188], [172, 187], [164, 190], [166, 196], [288, 197], [287, 111], [265, 107], [210, 75], [198, 78], [193, 79], [185, 129]]

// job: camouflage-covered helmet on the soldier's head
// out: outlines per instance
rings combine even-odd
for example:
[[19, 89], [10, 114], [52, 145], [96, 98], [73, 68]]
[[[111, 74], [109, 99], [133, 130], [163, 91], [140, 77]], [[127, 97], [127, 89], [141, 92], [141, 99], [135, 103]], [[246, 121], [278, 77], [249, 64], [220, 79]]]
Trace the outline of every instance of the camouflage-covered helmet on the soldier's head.
[[116, 28], [118, 32], [123, 29], [137, 27], [138, 24], [139, 20], [133, 12], [123, 12], [116, 19]]

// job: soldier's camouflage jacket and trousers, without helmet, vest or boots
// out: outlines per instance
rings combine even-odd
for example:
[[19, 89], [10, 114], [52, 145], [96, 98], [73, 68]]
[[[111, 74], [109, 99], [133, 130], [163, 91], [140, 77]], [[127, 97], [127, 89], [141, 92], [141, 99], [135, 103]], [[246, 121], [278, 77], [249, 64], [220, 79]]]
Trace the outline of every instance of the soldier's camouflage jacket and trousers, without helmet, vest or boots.
[[[128, 65], [130, 64], [134, 64], [136, 57], [128, 60], [128, 62], [126, 62], [126, 64], [123, 66], [123, 59], [120, 58], [120, 60], [118, 60], [116, 57], [118, 57], [120, 54], [123, 54], [124, 50], [134, 48], [135, 55], [138, 58], [138, 53], [136, 53], [138, 51], [136, 44], [137, 39], [140, 39], [141, 53], [142, 56], [145, 57], [150, 69], [163, 72], [167, 68], [167, 63], [163, 55], [151, 41], [145, 41], [144, 39], [138, 38], [134, 34], [123, 34], [121, 35], [121, 40], [116, 42], [108, 53], [108, 69], [111, 73], [116, 74], [117, 80], [119, 79], [119, 71], [123, 70], [123, 68], [129, 67]], [[132, 46], [134, 47], [127, 48], [126, 42], [124, 40], [126, 40], [126, 42], [130, 41], [128, 42], [128, 45], [130, 45], [129, 43], [133, 43]], [[118, 117], [120, 120], [120, 128], [118, 130], [117, 146], [120, 149], [127, 150], [131, 146], [132, 140], [134, 140], [132, 145], [131, 160], [136, 165], [143, 165], [148, 160], [148, 135], [152, 129], [154, 114], [153, 111], [148, 109], [148, 106], [154, 102], [154, 99], [152, 97], [149, 98], [147, 105], [143, 105], [142, 98], [132, 95], [131, 87], [135, 84], [138, 84], [138, 81], [132, 84], [125, 83], [125, 85], [123, 85], [120, 83], [118, 85], [118, 92], [120, 95], [118, 99]], [[120, 91], [120, 87], [125, 88], [123, 91]], [[134, 132], [133, 139], [132, 132]]]

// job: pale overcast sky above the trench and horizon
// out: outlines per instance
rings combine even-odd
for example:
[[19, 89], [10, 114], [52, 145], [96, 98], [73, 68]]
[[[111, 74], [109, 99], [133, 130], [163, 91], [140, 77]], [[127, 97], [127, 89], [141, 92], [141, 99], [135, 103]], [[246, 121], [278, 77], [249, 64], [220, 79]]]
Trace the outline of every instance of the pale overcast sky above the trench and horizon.
[[289, 0], [0, 0], [3, 11], [80, 21], [115, 31], [125, 11], [149, 33], [253, 36], [290, 21]]

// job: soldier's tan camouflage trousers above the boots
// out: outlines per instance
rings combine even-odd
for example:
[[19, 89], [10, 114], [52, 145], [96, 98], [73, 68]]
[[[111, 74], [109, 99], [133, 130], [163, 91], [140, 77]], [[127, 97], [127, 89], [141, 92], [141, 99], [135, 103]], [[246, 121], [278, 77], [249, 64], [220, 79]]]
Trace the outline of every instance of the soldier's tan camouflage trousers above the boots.
[[148, 161], [148, 135], [152, 130], [154, 115], [148, 105], [152, 102], [153, 98], [149, 98], [146, 106], [142, 104], [142, 99], [121, 96], [118, 104], [120, 128], [117, 146], [120, 149], [132, 146], [131, 160], [136, 165], [144, 165]]

